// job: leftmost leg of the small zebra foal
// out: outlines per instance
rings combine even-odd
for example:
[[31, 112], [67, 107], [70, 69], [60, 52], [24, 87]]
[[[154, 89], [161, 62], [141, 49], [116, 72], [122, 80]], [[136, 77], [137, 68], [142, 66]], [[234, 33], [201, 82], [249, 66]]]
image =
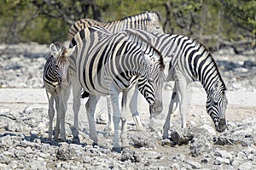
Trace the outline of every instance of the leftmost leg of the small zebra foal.
[[48, 106], [48, 116], [49, 116], [49, 141], [52, 140], [52, 135], [53, 135], [53, 127], [52, 127], [52, 124], [53, 124], [53, 118], [55, 116], [55, 109], [54, 109], [54, 98], [53, 98], [53, 95], [52, 93], [49, 93], [47, 90], [46, 90], [46, 94], [47, 94], [47, 98], [48, 98], [48, 102], [49, 102], [49, 106]]

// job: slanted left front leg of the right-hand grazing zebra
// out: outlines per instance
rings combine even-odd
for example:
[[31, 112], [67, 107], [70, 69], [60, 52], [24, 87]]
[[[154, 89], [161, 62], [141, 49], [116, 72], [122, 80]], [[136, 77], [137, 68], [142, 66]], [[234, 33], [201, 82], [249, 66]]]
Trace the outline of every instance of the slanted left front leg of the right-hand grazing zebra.
[[[177, 83], [175, 82], [174, 88], [172, 90], [172, 99], [169, 105], [169, 111], [166, 116], [166, 122], [164, 124], [164, 133], [163, 133], [163, 139], [168, 139], [169, 138], [169, 129], [170, 129], [170, 124], [171, 124], [171, 116], [172, 113], [176, 110], [177, 108], [177, 103], [178, 103], [178, 94], [177, 94]], [[173, 105], [176, 104], [175, 108], [173, 108]]]

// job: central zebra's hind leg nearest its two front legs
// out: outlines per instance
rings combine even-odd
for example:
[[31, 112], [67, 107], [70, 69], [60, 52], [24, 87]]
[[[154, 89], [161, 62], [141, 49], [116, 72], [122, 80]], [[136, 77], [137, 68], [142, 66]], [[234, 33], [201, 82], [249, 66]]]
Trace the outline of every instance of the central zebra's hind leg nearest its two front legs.
[[85, 104], [87, 118], [89, 122], [90, 139], [93, 140], [94, 144], [98, 144], [97, 133], [96, 133], [96, 123], [94, 120], [94, 113], [96, 110], [97, 102], [98, 102], [98, 99], [96, 98], [96, 96], [90, 94], [89, 99]]

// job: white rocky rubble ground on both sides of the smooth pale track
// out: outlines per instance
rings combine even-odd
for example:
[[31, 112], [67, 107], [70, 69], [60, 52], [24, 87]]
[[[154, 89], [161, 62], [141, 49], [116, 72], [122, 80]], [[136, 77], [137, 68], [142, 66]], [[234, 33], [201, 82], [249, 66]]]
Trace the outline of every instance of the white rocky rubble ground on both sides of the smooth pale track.
[[[0, 49], [3, 49], [0, 54], [0, 87], [42, 88], [48, 48], [48, 45], [37, 43], [0, 44]], [[256, 78], [244, 76], [245, 71], [256, 72], [254, 61], [236, 56], [240, 63], [228, 62], [233, 59], [226, 55], [229, 53], [218, 54], [218, 64], [225, 80], [234, 81], [232, 90], [256, 90]], [[238, 71], [236, 74], [234, 69]], [[241, 76], [245, 78], [241, 80]], [[201, 119], [200, 126], [196, 120], [188, 120], [192, 126], [189, 130], [178, 129], [177, 122], [172, 120], [173, 124], [176, 123], [172, 129], [175, 133], [170, 133], [171, 139], [162, 141], [158, 130], [163, 126], [160, 118], [155, 120], [155, 132], [148, 129], [144, 133], [129, 131], [131, 148], [114, 153], [111, 151], [112, 140], [107, 139], [101, 130], [105, 125], [96, 124], [97, 130], [100, 129], [98, 146], [90, 145], [89, 135], [83, 130], [79, 136], [88, 144], [49, 143], [45, 106], [27, 105], [17, 112], [0, 106], [0, 169], [256, 169], [256, 119], [253, 117], [245, 117], [239, 122], [229, 121], [230, 130], [219, 134], [207, 116], [192, 113], [195, 119]], [[97, 116], [96, 120], [106, 123], [107, 117]], [[87, 128], [87, 124], [83, 126]], [[72, 131], [67, 126], [67, 136], [70, 135]]]

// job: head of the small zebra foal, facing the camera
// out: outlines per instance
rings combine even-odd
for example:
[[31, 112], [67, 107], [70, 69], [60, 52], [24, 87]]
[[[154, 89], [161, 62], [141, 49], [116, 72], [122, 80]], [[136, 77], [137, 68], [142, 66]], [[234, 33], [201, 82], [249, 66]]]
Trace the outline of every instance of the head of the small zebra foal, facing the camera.
[[61, 87], [66, 88], [67, 81], [67, 68], [69, 66], [68, 57], [74, 52], [75, 47], [65, 48], [62, 43], [51, 43], [49, 46], [49, 54], [55, 58], [55, 77], [61, 83]]

